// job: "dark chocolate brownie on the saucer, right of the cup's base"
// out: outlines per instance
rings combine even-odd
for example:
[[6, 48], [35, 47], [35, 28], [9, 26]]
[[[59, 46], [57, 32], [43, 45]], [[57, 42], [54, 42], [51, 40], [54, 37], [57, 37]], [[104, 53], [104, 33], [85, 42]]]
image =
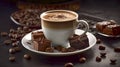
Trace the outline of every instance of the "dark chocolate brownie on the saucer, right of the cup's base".
[[89, 46], [87, 35], [73, 35], [69, 38], [70, 46], [75, 49], [84, 49]]

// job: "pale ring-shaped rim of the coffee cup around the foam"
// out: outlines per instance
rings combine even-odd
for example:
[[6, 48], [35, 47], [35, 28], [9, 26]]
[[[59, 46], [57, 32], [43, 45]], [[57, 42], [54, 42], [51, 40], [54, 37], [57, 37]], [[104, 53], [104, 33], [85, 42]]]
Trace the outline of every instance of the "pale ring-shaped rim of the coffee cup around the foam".
[[[46, 13], [49, 13], [49, 12], [68, 12], [68, 13], [71, 13], [71, 14], [74, 14], [75, 17], [73, 19], [69, 19], [69, 20], [62, 20], [62, 21], [54, 21], [54, 20], [49, 20], [49, 19], [45, 19], [44, 16], [46, 15]], [[42, 20], [45, 20], [45, 21], [49, 21], [49, 22], [65, 22], [65, 21], [72, 21], [72, 20], [75, 20], [78, 18], [78, 14], [74, 11], [71, 11], [71, 10], [49, 10], [49, 11], [46, 11], [46, 12], [43, 12], [41, 15], [40, 15], [40, 18]]]

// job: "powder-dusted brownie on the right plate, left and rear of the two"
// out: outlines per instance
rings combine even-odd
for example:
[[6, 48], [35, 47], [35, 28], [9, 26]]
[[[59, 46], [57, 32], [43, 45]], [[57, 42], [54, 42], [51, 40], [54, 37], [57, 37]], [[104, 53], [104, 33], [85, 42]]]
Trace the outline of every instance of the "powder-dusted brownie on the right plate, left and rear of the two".
[[108, 25], [113, 25], [115, 22], [110, 22], [110, 21], [103, 21], [103, 22], [98, 22], [96, 24], [96, 29], [100, 32], [103, 32], [103, 29], [108, 26]]

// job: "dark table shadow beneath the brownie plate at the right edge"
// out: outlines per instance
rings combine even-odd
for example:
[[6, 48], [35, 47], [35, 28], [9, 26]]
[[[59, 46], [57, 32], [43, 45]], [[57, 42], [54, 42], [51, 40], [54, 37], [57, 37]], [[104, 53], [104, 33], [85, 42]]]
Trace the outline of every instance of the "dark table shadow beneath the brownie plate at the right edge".
[[100, 38], [106, 46], [110, 48], [120, 47], [120, 37], [105, 37], [102, 35], [97, 35], [97, 38]]

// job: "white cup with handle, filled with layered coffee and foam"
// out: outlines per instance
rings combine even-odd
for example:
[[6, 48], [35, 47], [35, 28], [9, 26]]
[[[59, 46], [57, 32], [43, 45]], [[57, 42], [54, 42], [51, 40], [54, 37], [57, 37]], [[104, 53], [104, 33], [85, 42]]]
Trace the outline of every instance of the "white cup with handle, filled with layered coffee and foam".
[[78, 14], [69, 10], [50, 10], [40, 15], [42, 30], [45, 37], [52, 41], [52, 46], [69, 47], [69, 37], [74, 34], [79, 24], [85, 26], [86, 34], [89, 25], [84, 20], [78, 20]]

